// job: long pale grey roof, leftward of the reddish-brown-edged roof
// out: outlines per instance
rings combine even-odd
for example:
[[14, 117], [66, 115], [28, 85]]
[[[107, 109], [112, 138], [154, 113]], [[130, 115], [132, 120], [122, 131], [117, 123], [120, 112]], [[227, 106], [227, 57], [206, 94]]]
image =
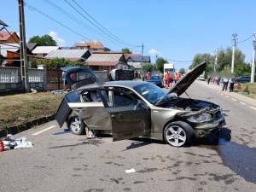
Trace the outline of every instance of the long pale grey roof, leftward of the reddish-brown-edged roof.
[[50, 51], [45, 58], [81, 59], [87, 51], [88, 49], [56, 49]]

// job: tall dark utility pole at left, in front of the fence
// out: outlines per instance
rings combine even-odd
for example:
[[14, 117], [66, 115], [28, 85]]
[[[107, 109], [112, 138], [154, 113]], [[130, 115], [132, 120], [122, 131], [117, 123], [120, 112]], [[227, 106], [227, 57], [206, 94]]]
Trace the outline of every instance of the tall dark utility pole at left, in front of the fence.
[[26, 32], [25, 32], [25, 17], [24, 17], [24, 2], [19, 2], [19, 21], [20, 21], [20, 69], [21, 82], [24, 92], [28, 92], [27, 80], [27, 60], [26, 60]]

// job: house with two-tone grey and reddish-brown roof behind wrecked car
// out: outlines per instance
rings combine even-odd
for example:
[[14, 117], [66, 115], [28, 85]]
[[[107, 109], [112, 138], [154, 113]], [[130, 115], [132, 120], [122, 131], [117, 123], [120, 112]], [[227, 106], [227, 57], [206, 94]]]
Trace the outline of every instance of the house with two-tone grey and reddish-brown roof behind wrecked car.
[[111, 71], [113, 68], [128, 68], [125, 55], [121, 52], [93, 52], [84, 62], [94, 71]]

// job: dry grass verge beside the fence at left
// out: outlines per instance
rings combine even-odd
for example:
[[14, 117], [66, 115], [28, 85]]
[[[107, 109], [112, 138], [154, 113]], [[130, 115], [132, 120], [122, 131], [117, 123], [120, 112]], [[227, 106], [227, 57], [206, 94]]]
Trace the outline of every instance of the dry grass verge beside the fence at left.
[[51, 93], [0, 96], [0, 130], [55, 113], [61, 99]]

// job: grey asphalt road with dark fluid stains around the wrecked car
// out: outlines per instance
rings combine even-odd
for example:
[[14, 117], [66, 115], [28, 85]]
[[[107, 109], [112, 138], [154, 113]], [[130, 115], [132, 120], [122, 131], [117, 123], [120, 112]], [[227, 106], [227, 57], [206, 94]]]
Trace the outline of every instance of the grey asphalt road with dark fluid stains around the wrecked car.
[[15, 136], [34, 148], [0, 154], [0, 191], [256, 191], [256, 110], [206, 84], [188, 94], [224, 109], [227, 127], [217, 142], [174, 148], [142, 138], [87, 140], [53, 121]]

